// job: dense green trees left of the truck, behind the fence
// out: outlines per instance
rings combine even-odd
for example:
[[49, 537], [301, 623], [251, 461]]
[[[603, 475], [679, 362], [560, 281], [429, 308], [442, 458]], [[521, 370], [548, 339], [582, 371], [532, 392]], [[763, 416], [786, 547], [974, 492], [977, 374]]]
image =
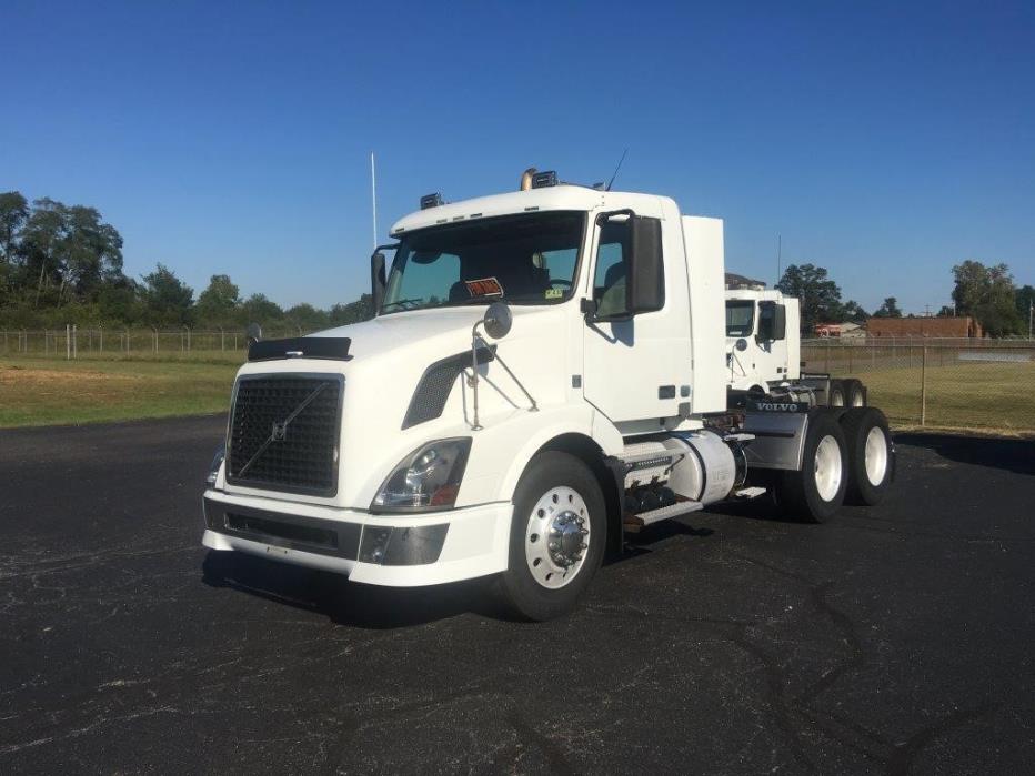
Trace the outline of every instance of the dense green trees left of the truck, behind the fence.
[[242, 298], [229, 275], [194, 290], [159, 263], [134, 280], [122, 270], [122, 236], [94, 208], [0, 193], [0, 327], [268, 327], [316, 331], [371, 318], [370, 294], [320, 310], [287, 310], [261, 293]]

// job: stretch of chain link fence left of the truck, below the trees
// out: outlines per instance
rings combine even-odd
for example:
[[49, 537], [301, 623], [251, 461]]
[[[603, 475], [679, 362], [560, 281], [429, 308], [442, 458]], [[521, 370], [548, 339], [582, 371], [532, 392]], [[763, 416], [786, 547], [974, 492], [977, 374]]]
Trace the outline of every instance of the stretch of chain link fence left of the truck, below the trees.
[[[300, 326], [263, 330], [263, 337], [301, 336]], [[243, 329], [26, 329], [0, 331], [0, 356], [44, 359], [154, 359], [244, 361]]]

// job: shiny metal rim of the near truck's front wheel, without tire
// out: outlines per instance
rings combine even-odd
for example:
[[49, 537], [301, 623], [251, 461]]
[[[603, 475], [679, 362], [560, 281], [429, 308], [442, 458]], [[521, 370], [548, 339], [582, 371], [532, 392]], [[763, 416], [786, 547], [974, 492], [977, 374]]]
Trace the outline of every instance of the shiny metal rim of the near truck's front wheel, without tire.
[[525, 526], [524, 555], [532, 578], [549, 589], [571, 583], [585, 564], [590, 531], [590, 510], [577, 491], [546, 491]]

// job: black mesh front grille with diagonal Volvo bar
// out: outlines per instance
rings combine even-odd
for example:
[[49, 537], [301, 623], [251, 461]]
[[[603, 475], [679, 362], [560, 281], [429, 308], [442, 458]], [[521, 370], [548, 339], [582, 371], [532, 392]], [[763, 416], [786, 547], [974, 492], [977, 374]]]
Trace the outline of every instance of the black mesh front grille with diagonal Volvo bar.
[[336, 376], [241, 377], [227, 441], [227, 482], [334, 495], [342, 389]]

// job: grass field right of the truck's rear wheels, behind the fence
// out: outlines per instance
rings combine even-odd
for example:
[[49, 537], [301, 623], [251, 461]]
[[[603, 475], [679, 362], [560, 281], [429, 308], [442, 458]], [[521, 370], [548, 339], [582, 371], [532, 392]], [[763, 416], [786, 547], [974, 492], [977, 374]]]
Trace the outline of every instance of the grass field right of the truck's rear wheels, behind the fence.
[[[893, 425], [921, 422], [921, 367], [854, 369], [870, 390], [870, 404]], [[927, 366], [925, 425], [943, 429], [1035, 431], [1035, 362], [956, 363]]]

